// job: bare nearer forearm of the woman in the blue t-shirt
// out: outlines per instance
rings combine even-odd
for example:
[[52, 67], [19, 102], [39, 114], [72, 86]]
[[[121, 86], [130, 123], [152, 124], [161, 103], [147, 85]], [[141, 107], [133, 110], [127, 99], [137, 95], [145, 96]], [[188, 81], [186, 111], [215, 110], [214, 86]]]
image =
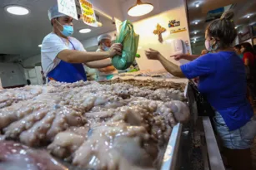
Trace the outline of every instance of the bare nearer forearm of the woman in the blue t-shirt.
[[175, 65], [175, 64], [173, 64], [173, 62], [168, 61], [165, 57], [160, 56], [159, 57], [159, 61], [161, 62], [161, 64], [165, 68], [165, 70], [167, 70], [172, 75], [177, 76], [177, 77], [185, 77], [183, 75], [183, 72], [180, 69], [180, 67]]

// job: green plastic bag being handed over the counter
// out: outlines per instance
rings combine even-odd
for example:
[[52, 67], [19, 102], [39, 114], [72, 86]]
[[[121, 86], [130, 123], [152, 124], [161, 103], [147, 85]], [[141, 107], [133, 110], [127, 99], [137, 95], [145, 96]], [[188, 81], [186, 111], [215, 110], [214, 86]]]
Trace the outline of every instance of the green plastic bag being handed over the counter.
[[128, 69], [135, 60], [139, 36], [134, 32], [132, 22], [128, 20], [123, 22], [119, 29], [120, 32], [116, 43], [123, 45], [123, 53], [122, 56], [114, 56], [112, 64], [118, 70], [125, 70]]

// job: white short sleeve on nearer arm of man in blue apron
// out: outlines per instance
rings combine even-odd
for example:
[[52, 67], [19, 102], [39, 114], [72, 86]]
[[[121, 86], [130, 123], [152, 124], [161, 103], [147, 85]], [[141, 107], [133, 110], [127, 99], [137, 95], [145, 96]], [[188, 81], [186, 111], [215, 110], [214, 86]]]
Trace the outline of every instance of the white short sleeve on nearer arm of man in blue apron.
[[43, 56], [54, 62], [58, 53], [67, 49], [65, 43], [57, 35], [52, 34], [43, 40], [41, 52]]

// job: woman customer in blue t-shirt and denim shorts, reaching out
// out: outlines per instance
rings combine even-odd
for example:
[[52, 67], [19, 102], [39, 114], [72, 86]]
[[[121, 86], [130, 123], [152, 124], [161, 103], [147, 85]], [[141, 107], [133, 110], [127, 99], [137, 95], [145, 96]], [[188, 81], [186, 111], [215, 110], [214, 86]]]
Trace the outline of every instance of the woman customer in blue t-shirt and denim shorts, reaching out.
[[256, 135], [256, 117], [246, 100], [246, 75], [243, 61], [233, 51], [237, 36], [231, 21], [233, 12], [224, 12], [211, 22], [205, 32], [204, 56], [178, 55], [176, 60], [189, 62], [177, 66], [158, 51], [146, 51], [149, 60], [158, 60], [172, 75], [193, 79], [199, 77], [198, 90], [217, 110], [213, 117], [215, 129], [222, 139], [225, 156], [233, 170], [251, 170], [250, 147]]

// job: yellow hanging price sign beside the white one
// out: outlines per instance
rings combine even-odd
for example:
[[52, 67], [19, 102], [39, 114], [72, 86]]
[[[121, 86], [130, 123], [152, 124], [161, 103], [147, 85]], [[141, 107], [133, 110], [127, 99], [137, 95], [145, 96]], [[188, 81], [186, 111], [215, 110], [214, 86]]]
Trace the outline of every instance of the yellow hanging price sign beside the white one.
[[98, 22], [93, 9], [93, 4], [86, 0], [79, 0], [83, 22], [92, 27], [98, 27]]

